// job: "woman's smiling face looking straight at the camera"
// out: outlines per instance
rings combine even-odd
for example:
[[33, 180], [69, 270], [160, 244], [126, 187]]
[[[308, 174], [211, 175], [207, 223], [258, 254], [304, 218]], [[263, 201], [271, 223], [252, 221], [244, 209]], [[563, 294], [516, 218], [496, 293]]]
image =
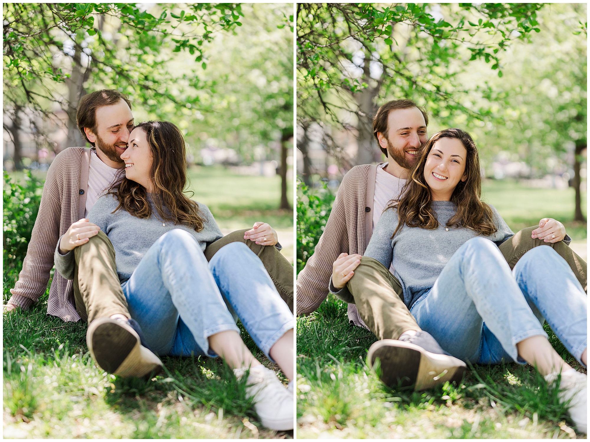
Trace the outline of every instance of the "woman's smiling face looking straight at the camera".
[[424, 165], [424, 179], [434, 201], [450, 201], [459, 181], [465, 181], [467, 149], [456, 138], [434, 143]]

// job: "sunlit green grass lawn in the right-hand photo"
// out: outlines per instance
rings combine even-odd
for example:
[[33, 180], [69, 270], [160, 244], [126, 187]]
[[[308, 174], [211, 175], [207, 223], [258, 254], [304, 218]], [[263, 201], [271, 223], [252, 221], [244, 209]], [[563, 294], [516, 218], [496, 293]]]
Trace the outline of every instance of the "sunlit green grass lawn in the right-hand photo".
[[[553, 217], [573, 240], [586, 238], [585, 225], [571, 221], [573, 189], [485, 181], [483, 198], [514, 231]], [[546, 330], [566, 361], [585, 372]], [[381, 384], [365, 364], [375, 340], [349, 325], [346, 304], [332, 294], [316, 312], [297, 319], [298, 438], [586, 437], [576, 435], [555, 388], [528, 365], [475, 366], [460, 385], [399, 391]]]

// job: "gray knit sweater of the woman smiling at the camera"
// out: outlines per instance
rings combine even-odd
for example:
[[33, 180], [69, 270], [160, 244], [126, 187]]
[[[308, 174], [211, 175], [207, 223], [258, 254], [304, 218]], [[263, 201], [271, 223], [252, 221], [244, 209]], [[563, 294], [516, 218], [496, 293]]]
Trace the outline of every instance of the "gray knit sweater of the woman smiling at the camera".
[[434, 286], [445, 264], [466, 241], [480, 236], [501, 244], [514, 235], [491, 205], [498, 231], [489, 236], [477, 235], [468, 228], [447, 228], [447, 221], [455, 214], [453, 202], [432, 201], [431, 207], [437, 213], [437, 229], [404, 225], [393, 239], [391, 235], [398, 225], [398, 212], [393, 208], [386, 209], [365, 251], [365, 256], [378, 260], [386, 269], [393, 261], [395, 276], [402, 284], [404, 303], [408, 308]]

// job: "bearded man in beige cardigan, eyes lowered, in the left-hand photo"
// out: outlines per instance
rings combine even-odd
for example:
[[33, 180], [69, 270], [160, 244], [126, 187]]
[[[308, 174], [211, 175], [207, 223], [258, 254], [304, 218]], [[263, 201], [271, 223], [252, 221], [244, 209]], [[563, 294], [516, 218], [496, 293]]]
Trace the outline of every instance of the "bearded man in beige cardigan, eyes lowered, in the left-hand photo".
[[[45, 293], [55, 248], [70, 226], [81, 232], [77, 240], [86, 241], [83, 231], [90, 224], [86, 215], [124, 168], [120, 155], [127, 148], [134, 125], [131, 107], [129, 99], [116, 90], [95, 91], [80, 100], [78, 129], [93, 148], [65, 149], [51, 164], [27, 256], [5, 311], [28, 309]], [[251, 230], [234, 232], [208, 245], [205, 256], [210, 260], [219, 248], [233, 241], [246, 243], [261, 258], [281, 297], [293, 310], [293, 269], [276, 247], [255, 243], [260, 243], [258, 233], [263, 229], [276, 235], [270, 226], [257, 222]], [[48, 315], [65, 321], [87, 320], [91, 355], [107, 372], [143, 376], [158, 369], [162, 362], [142, 345], [142, 332], [127, 310], [113, 245], [106, 234], [100, 232], [89, 238], [76, 248], [75, 256], [73, 281], [54, 274]]]

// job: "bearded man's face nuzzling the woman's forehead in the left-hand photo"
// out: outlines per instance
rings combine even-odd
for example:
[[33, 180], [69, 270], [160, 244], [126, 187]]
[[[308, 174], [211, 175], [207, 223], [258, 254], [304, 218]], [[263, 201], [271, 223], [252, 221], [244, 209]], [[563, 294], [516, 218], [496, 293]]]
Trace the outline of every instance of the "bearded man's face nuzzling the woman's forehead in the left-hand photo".
[[84, 129], [104, 163], [113, 168], [123, 167], [121, 154], [127, 149], [129, 133], [133, 130], [133, 114], [124, 100], [96, 109], [96, 134], [88, 127]]

